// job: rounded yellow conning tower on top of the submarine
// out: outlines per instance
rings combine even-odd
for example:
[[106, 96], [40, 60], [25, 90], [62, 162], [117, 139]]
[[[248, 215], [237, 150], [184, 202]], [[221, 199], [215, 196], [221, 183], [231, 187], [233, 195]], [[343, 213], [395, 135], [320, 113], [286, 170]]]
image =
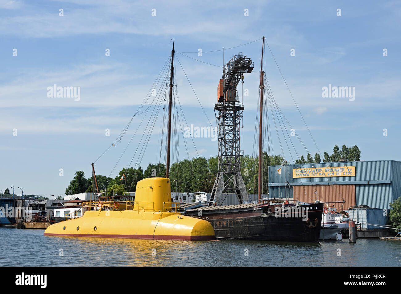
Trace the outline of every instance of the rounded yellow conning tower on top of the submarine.
[[169, 178], [146, 178], [136, 184], [135, 208], [168, 212], [172, 208]]

